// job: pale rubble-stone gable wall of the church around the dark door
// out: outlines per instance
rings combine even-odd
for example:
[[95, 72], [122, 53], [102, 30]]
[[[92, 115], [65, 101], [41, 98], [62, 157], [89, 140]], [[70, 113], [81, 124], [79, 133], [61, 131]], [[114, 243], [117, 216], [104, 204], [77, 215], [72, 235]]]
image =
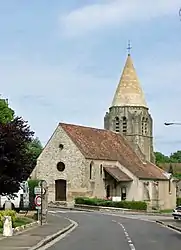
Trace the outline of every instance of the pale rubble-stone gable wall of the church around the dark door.
[[[63, 148], [62, 148], [63, 147]], [[65, 170], [57, 170], [57, 163], [63, 162]], [[55, 201], [55, 180], [67, 181], [67, 200], [72, 196], [88, 193], [85, 182], [86, 160], [76, 145], [58, 126], [38, 158], [32, 178], [44, 179], [49, 186], [49, 202]]]

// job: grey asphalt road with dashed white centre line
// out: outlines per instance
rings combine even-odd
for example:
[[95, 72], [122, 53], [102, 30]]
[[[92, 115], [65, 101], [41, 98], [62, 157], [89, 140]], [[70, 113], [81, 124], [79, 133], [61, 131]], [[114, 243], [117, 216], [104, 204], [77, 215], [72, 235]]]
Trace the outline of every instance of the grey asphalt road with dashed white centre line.
[[[180, 250], [181, 234], [146, 218], [99, 212], [52, 211], [78, 223], [77, 228], [48, 250]], [[134, 219], [133, 219], [134, 218]]]

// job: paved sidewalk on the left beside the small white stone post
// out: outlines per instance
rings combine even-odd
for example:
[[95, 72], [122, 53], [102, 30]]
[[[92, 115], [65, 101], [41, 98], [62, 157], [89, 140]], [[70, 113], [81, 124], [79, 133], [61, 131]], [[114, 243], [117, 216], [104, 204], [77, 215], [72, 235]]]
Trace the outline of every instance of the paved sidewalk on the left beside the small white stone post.
[[31, 228], [19, 235], [0, 238], [0, 250], [27, 250], [37, 245], [46, 237], [71, 225], [64, 217], [48, 215], [48, 224]]

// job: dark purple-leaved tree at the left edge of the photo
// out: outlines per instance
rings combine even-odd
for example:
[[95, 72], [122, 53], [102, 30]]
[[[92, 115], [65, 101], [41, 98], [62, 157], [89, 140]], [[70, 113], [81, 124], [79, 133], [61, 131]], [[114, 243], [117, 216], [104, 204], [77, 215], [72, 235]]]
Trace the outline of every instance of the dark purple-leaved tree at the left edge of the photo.
[[27, 122], [20, 117], [0, 123], [0, 195], [17, 192], [20, 183], [27, 180], [35, 167], [28, 148], [33, 135]]

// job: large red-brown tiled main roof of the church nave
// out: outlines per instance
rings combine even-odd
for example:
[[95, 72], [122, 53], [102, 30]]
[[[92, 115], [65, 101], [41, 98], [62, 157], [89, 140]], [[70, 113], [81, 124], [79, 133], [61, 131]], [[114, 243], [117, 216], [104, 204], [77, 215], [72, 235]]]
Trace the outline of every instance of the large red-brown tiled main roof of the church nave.
[[167, 179], [159, 167], [143, 163], [120, 134], [73, 124], [60, 123], [60, 126], [87, 159], [118, 161], [140, 179]]

